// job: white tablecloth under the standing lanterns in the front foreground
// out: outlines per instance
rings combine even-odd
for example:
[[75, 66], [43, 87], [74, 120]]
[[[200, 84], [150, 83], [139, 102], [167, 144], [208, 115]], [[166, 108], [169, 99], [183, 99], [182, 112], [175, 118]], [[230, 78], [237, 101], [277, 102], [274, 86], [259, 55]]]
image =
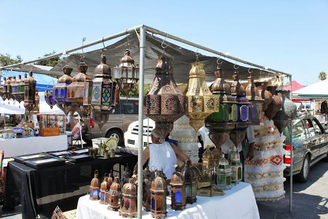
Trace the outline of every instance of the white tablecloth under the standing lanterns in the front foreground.
[[[187, 204], [183, 211], [171, 208], [171, 196], [167, 197], [166, 218], [260, 218], [252, 186], [240, 182], [223, 196], [197, 196], [197, 202]], [[108, 205], [89, 200], [89, 195], [80, 197], [76, 218], [121, 218], [117, 211], [107, 210]], [[142, 218], [152, 218], [150, 212], [142, 211]]]

